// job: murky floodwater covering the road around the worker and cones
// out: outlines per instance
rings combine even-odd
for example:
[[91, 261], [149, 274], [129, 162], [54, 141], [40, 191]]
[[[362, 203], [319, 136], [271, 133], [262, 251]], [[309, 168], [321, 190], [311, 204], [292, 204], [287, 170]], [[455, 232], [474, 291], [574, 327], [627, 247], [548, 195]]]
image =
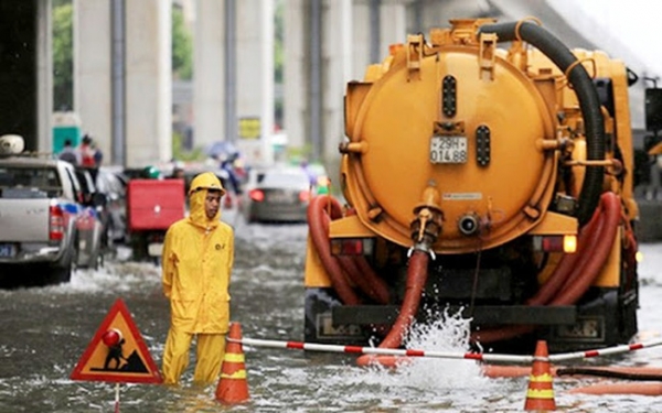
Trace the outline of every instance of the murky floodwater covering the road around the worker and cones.
[[[232, 319], [244, 337], [301, 340], [307, 227], [236, 225]], [[662, 330], [662, 244], [641, 246], [640, 330]], [[121, 258], [121, 257], [120, 257]], [[122, 298], [160, 367], [168, 302], [154, 264], [109, 262], [77, 271], [65, 285], [0, 291], [0, 412], [114, 412], [115, 384], [72, 381], [70, 376], [109, 308]], [[466, 324], [435, 326], [417, 348], [463, 352]], [[215, 384], [178, 389], [121, 384], [121, 412], [519, 412], [527, 378], [487, 379], [469, 360], [418, 359], [397, 372], [355, 366], [342, 354], [305, 354], [244, 347], [250, 401], [223, 406]], [[662, 367], [662, 348], [594, 359], [583, 365]], [[573, 365], [578, 366], [579, 362]], [[590, 396], [566, 390], [598, 379], [554, 381], [563, 412], [662, 412], [659, 398]]]

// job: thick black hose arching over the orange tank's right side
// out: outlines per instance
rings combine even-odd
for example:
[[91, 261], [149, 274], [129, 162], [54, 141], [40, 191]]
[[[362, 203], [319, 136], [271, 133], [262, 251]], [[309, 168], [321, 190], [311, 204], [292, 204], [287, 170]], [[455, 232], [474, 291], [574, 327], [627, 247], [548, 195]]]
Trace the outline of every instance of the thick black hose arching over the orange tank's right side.
[[[577, 57], [573, 52], [546, 29], [532, 22], [485, 24], [480, 26], [479, 33], [494, 33], [499, 42], [512, 42], [517, 39], [517, 25], [520, 39], [537, 47], [563, 73], [566, 73], [568, 67], [574, 64], [568, 74], [568, 81], [577, 94], [579, 108], [584, 117], [587, 159], [590, 161], [604, 160], [605, 123], [600, 111], [600, 100], [590, 76], [581, 64], [576, 64]], [[598, 207], [602, 192], [604, 174], [604, 166], [586, 166], [586, 175], [576, 211], [580, 226], [590, 220]]]

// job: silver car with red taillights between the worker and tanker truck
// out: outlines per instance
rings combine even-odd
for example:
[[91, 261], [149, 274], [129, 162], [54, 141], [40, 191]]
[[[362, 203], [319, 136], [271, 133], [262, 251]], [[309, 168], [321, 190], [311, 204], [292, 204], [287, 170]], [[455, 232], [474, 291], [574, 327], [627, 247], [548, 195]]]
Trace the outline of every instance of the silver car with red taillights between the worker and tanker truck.
[[313, 188], [301, 167], [276, 166], [250, 170], [245, 194], [247, 222], [306, 222]]

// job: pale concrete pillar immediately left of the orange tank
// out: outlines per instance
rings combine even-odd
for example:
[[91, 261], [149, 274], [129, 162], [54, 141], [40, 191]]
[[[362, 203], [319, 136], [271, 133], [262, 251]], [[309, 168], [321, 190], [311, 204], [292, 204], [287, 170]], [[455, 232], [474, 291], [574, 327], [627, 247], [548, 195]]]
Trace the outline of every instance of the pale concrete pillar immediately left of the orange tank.
[[[288, 0], [285, 10], [285, 130], [289, 146], [299, 150], [307, 142], [319, 142], [320, 160], [324, 164], [338, 160], [338, 144], [344, 137], [343, 96], [352, 76], [353, 8], [351, 0], [321, 1], [321, 64], [311, 67], [310, 1]], [[312, 70], [320, 73], [312, 76]], [[311, 79], [319, 85], [311, 85]], [[291, 79], [300, 79], [292, 81]], [[311, 87], [319, 89], [312, 94]], [[314, 96], [313, 96], [314, 95]], [[312, 99], [321, 104], [321, 137], [312, 137], [310, 127]], [[333, 176], [333, 174], [332, 174]]]

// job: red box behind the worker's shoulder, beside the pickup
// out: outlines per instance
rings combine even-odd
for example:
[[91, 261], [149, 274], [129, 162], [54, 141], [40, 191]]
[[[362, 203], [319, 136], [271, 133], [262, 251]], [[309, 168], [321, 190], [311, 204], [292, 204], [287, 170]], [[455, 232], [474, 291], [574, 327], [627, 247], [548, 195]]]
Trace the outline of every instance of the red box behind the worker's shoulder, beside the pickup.
[[166, 230], [185, 215], [183, 180], [131, 180], [127, 186], [129, 231]]

